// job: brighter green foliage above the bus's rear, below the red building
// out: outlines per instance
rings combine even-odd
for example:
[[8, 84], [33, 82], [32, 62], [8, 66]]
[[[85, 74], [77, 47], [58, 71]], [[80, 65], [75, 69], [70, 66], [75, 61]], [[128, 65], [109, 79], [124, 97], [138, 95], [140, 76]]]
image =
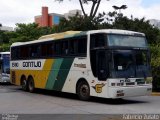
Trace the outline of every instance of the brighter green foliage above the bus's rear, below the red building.
[[0, 51], [9, 51], [9, 46], [14, 42], [26, 42], [38, 39], [42, 35], [53, 33], [50, 27], [38, 27], [36, 23], [16, 24], [13, 32], [0, 31]]

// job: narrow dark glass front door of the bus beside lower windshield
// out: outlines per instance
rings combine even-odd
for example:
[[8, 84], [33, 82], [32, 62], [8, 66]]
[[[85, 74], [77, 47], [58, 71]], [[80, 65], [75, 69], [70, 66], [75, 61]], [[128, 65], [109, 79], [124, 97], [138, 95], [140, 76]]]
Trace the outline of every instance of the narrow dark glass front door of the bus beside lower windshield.
[[106, 81], [109, 77], [109, 58], [105, 50], [98, 50], [96, 55], [98, 80]]

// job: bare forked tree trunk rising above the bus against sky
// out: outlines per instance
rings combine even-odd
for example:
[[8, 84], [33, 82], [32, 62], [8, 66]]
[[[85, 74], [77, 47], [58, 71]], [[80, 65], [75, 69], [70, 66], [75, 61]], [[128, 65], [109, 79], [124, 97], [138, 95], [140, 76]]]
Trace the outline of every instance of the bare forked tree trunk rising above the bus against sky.
[[[62, 2], [64, 0], [55, 0], [55, 1]], [[107, 0], [107, 1], [109, 1], [109, 0]], [[84, 16], [88, 16], [88, 15], [86, 14], [86, 11], [84, 10], [83, 4], [89, 4], [90, 2], [92, 3], [92, 7], [90, 10], [89, 18], [91, 18], [91, 20], [92, 20], [96, 16], [96, 13], [98, 11], [101, 0], [79, 0], [81, 10], [82, 10]]]

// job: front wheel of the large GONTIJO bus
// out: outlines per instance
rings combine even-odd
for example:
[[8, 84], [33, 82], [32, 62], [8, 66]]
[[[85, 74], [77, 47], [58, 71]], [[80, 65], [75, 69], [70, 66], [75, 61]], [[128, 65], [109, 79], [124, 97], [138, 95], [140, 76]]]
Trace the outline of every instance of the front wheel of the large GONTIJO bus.
[[90, 98], [90, 88], [87, 82], [81, 81], [78, 84], [77, 94], [81, 100], [88, 100]]

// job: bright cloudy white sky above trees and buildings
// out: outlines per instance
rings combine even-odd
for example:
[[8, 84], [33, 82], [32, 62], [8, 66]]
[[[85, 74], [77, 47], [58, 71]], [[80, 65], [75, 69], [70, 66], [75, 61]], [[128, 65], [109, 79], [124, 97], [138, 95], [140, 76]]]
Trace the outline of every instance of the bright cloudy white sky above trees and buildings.
[[[85, 5], [87, 13], [90, 5]], [[98, 12], [114, 11], [113, 5], [127, 5], [122, 13], [128, 17], [160, 20], [160, 0], [102, 0]], [[62, 3], [55, 0], [0, 0], [0, 23], [10, 27], [15, 27], [16, 23], [32, 23], [34, 16], [41, 15], [42, 6], [49, 7], [49, 13], [59, 14], [81, 9], [79, 0], [64, 0]]]

